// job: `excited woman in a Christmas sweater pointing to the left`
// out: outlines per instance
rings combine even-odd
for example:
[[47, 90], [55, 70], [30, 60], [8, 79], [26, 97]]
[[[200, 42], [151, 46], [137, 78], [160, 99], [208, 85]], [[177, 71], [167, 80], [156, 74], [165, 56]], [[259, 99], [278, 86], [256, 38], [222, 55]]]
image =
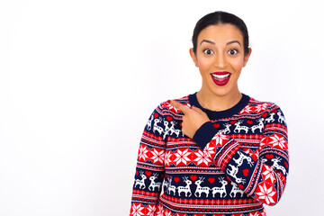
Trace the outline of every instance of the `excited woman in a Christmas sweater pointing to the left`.
[[251, 55], [245, 23], [207, 14], [190, 55], [202, 88], [157, 106], [139, 146], [130, 215], [266, 215], [284, 193], [284, 114], [238, 90]]

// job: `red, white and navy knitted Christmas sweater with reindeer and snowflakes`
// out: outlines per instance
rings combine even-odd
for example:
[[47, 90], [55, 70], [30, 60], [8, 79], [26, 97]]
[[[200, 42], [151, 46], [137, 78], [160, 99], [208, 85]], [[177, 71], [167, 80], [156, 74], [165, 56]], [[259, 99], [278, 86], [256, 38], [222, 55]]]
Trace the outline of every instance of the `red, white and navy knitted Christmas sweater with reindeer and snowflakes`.
[[139, 144], [130, 215], [266, 215], [263, 204], [279, 202], [289, 164], [284, 114], [242, 95], [221, 112], [202, 108], [196, 94], [175, 100], [211, 120], [193, 139], [181, 131], [183, 112], [157, 106]]

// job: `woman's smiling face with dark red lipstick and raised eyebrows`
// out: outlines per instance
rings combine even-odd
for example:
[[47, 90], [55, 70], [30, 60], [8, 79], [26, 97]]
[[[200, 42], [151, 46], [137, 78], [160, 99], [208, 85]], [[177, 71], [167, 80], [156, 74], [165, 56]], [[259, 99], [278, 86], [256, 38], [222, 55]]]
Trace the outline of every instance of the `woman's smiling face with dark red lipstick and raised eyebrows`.
[[219, 96], [238, 94], [238, 77], [251, 53], [244, 55], [243, 36], [232, 24], [211, 25], [197, 40], [190, 54], [202, 75], [202, 91]]

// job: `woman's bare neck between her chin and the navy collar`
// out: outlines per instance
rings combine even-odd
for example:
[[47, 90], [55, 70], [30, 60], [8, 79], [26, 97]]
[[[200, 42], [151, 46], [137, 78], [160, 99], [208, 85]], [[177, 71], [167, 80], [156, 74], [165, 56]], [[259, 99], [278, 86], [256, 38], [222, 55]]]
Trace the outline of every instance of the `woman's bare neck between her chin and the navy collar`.
[[217, 95], [201, 89], [196, 96], [198, 103], [210, 111], [228, 110], [235, 106], [242, 98], [242, 94], [238, 90], [226, 95]]

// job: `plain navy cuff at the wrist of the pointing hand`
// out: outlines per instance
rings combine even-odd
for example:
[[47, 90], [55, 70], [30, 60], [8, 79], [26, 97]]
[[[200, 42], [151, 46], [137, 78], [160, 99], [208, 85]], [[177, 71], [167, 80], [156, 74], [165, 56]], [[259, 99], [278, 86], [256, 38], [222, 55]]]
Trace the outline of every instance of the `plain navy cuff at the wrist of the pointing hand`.
[[207, 121], [194, 133], [193, 141], [203, 149], [216, 133], [217, 129], [212, 125], [211, 121]]

